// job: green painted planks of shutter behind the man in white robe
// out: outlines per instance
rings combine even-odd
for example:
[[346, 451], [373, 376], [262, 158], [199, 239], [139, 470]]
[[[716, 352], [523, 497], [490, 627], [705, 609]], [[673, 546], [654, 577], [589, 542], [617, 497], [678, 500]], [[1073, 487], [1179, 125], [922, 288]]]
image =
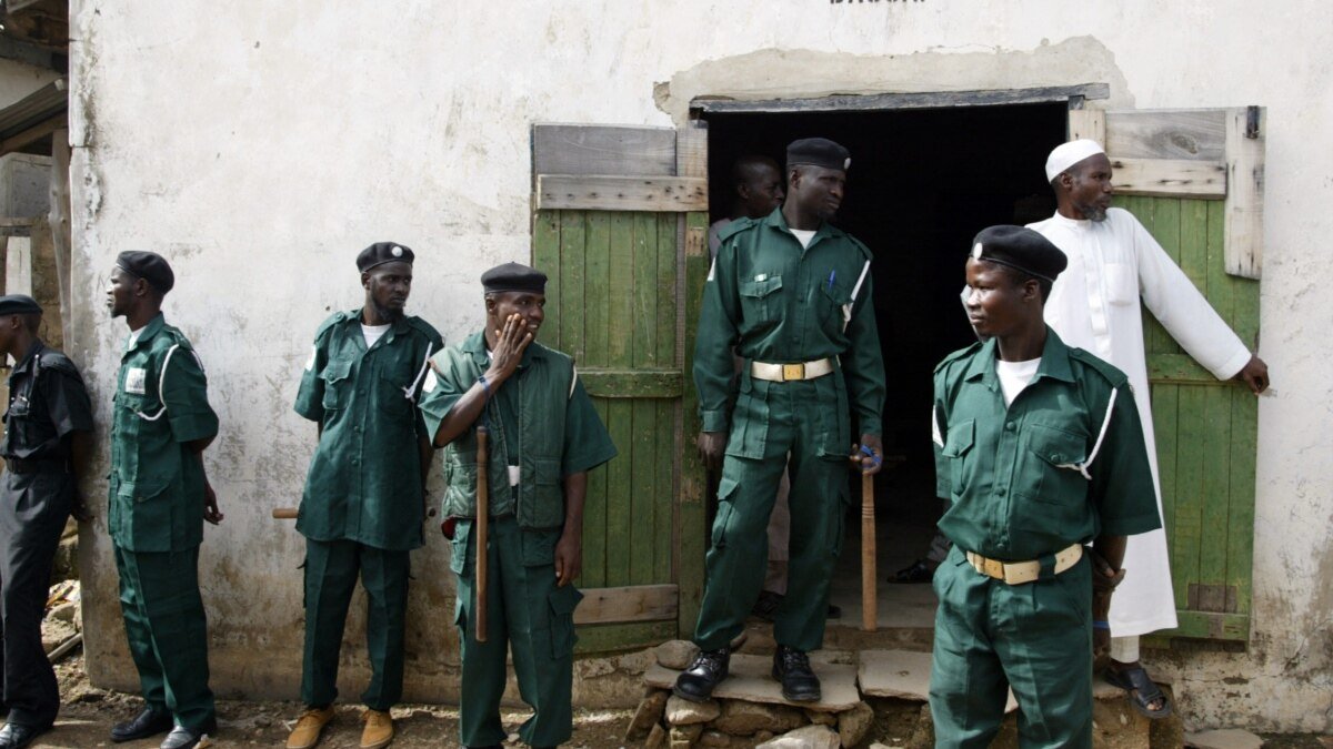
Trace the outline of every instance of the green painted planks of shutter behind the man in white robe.
[[[1258, 283], [1225, 272], [1220, 201], [1117, 199], [1252, 348]], [[1146, 216], [1146, 219], [1145, 219]], [[1257, 398], [1194, 363], [1145, 312], [1162, 517], [1180, 626], [1165, 638], [1245, 640], [1253, 593]]]

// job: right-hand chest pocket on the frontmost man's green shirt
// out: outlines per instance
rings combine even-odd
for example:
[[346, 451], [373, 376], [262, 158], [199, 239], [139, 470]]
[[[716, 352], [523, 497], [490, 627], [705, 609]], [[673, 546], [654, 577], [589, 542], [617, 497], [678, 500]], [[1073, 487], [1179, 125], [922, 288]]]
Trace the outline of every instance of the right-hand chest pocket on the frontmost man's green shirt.
[[[1030, 424], [1028, 457], [1020, 465], [1017, 492], [1045, 505], [1058, 508], [1050, 513], [1037, 513], [1045, 520], [1058, 521], [1050, 528], [1058, 532], [1074, 520], [1088, 497], [1088, 480], [1078, 466], [1088, 458], [1088, 436], [1077, 434], [1048, 424]], [[1044, 522], [1040, 521], [1038, 522]]]

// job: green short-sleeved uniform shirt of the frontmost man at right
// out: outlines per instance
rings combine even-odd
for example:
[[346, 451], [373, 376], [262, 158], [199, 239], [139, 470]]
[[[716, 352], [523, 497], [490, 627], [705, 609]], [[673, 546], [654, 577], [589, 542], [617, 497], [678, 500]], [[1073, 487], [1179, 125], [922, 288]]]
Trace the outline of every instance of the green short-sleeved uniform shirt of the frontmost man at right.
[[1021, 561], [1101, 533], [1161, 526], [1134, 396], [1122, 372], [1049, 327], [1032, 382], [1008, 408], [997, 344], [934, 371], [940, 530], [961, 549]]

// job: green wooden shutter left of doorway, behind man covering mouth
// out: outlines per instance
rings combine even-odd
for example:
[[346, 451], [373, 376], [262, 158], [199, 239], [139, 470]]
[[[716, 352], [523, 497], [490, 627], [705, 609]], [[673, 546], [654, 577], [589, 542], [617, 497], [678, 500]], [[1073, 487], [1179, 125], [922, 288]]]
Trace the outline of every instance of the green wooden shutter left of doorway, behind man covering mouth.
[[579, 652], [693, 633], [704, 585], [704, 473], [693, 332], [708, 273], [708, 139], [670, 128], [532, 129], [543, 341], [575, 357], [620, 450], [584, 509]]

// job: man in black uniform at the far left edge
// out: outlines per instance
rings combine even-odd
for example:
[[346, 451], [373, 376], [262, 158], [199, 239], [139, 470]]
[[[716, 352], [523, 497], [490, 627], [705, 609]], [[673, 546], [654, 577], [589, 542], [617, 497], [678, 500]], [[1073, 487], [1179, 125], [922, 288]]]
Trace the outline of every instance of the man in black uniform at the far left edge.
[[37, 337], [32, 297], [0, 297], [0, 353], [15, 360], [0, 454], [0, 613], [3, 702], [9, 722], [0, 749], [28, 746], [56, 720], [60, 690], [41, 646], [51, 566], [69, 513], [85, 517], [76, 466], [87, 465], [92, 405], [72, 361]]

